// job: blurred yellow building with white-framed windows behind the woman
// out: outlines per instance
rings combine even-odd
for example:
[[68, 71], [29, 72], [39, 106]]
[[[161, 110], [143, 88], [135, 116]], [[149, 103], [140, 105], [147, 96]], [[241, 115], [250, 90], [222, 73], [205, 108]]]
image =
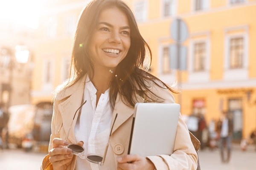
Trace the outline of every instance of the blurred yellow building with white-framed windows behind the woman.
[[[229, 111], [234, 139], [256, 127], [256, 0], [127, 0], [141, 34], [151, 47], [152, 74], [182, 88], [175, 95], [181, 113], [204, 114], [207, 123]], [[88, 0], [45, 1], [35, 50], [33, 102], [51, 100], [52, 91], [68, 77], [76, 21]], [[182, 70], [171, 46], [171, 25], [180, 18], [188, 37]], [[184, 34], [183, 34], [184, 35]], [[172, 63], [172, 64], [170, 64]], [[175, 66], [175, 65], [174, 65]]]

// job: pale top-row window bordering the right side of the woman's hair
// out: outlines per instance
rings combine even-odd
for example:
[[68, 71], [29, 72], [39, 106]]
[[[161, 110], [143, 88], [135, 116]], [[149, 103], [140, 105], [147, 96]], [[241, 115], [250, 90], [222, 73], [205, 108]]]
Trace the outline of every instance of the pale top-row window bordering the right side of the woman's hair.
[[134, 13], [135, 13], [135, 18], [137, 22], [142, 22], [146, 20], [147, 8], [146, 8], [146, 2], [144, 0], [135, 3]]

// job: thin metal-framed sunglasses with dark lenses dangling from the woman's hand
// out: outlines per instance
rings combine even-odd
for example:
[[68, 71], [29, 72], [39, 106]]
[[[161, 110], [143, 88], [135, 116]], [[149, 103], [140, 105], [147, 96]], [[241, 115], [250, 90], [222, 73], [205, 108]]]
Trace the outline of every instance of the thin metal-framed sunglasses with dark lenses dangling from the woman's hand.
[[[73, 120], [71, 122], [71, 125], [67, 131], [67, 136], [65, 138], [65, 141], [67, 141], [67, 138], [70, 134], [70, 129], [71, 129], [71, 126], [73, 125], [73, 122], [74, 122], [74, 119], [75, 119], [75, 116], [76, 116], [76, 113], [77, 111], [79, 111], [79, 109], [86, 103], [86, 100], [85, 102], [83, 102], [81, 104], [81, 106], [76, 110], [75, 114], [74, 114], [74, 117], [73, 117]], [[93, 163], [96, 163], [96, 164], [100, 164], [101, 166], [104, 164], [105, 162], [105, 158], [106, 158], [106, 155], [107, 155], [107, 151], [108, 151], [108, 145], [109, 145], [109, 139], [110, 139], [110, 136], [111, 136], [111, 133], [112, 133], [112, 130], [113, 130], [113, 126], [116, 122], [116, 117], [117, 117], [117, 113], [116, 113], [116, 116], [115, 116], [115, 119], [113, 121], [113, 125], [111, 127], [111, 130], [110, 130], [110, 134], [109, 134], [109, 138], [108, 138], [108, 143], [106, 145], [106, 148], [105, 148], [105, 151], [104, 151], [104, 155], [103, 156], [100, 156], [100, 155], [97, 155], [97, 154], [88, 154], [86, 156], [86, 159], [87, 161], [90, 161], [90, 162], [93, 162]], [[70, 148], [72, 150], [72, 153], [76, 156], [79, 156], [81, 159], [85, 159], [85, 156], [84, 156], [84, 147], [78, 145], [78, 144], [69, 144], [68, 146], [66, 146], [67, 148]]]

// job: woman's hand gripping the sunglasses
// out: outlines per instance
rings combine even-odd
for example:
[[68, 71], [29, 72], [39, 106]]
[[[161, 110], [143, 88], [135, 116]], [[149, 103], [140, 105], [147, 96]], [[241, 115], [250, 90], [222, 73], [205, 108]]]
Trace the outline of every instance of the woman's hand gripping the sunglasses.
[[49, 161], [54, 170], [67, 170], [73, 159], [72, 150], [66, 148], [69, 143], [63, 139], [55, 138], [52, 140], [53, 148], [49, 151]]

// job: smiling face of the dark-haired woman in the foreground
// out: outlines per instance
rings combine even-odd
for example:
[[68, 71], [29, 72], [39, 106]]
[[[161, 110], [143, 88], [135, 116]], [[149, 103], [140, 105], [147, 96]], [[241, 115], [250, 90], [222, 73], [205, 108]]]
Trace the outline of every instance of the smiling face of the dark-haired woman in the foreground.
[[118, 8], [107, 8], [89, 42], [90, 58], [99, 71], [115, 68], [127, 55], [131, 45], [130, 26], [126, 15]]

